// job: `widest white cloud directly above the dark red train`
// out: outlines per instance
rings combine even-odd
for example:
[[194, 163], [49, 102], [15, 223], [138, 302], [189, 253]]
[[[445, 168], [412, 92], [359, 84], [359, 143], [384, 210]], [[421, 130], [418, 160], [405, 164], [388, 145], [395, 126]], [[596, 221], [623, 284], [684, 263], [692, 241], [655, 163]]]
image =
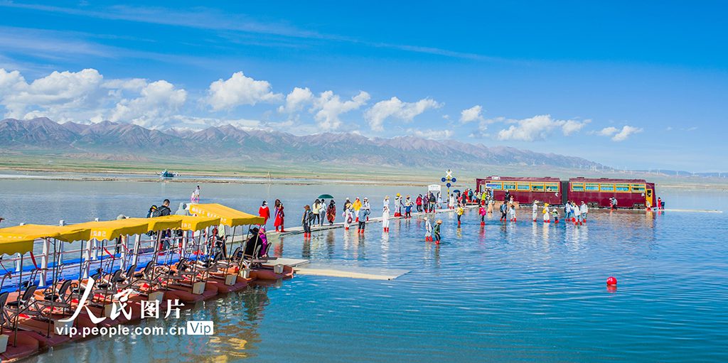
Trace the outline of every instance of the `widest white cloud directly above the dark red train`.
[[568, 136], [582, 129], [590, 120], [556, 120], [550, 115], [538, 115], [529, 119], [509, 120], [508, 122], [513, 125], [498, 132], [499, 140], [543, 140], [558, 129], [561, 129], [563, 135]]

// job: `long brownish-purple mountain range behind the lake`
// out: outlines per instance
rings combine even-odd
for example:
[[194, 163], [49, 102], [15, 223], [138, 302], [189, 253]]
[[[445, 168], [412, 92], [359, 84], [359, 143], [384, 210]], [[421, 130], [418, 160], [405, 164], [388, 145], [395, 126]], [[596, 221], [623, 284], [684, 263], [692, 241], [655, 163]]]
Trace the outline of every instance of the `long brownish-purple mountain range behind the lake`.
[[232, 125], [199, 131], [159, 130], [111, 121], [59, 124], [44, 117], [0, 121], [0, 147], [12, 152], [82, 155], [93, 159], [125, 156], [410, 168], [440, 167], [447, 161], [448, 165], [470, 169], [482, 165], [609, 169], [574, 156], [415, 136], [382, 138], [332, 132], [298, 136], [280, 131], [244, 130]]

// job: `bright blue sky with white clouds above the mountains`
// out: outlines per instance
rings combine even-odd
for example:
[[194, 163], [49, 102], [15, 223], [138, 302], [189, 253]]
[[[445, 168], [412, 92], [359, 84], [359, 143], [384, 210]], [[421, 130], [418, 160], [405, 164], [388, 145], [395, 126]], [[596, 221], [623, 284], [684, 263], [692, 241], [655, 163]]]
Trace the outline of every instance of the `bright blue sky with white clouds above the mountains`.
[[728, 171], [719, 1], [0, 0], [0, 113]]

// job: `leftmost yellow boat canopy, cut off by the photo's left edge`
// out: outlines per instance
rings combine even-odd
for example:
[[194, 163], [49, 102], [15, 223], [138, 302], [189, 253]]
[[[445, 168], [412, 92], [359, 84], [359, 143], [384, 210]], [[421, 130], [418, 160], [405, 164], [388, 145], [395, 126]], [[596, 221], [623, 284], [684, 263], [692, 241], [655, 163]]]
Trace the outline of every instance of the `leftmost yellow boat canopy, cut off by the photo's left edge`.
[[39, 224], [25, 224], [0, 228], [0, 254], [25, 253], [33, 250], [36, 239], [52, 238], [61, 241], [74, 242], [88, 239], [89, 229], [75, 226], [43, 226]]

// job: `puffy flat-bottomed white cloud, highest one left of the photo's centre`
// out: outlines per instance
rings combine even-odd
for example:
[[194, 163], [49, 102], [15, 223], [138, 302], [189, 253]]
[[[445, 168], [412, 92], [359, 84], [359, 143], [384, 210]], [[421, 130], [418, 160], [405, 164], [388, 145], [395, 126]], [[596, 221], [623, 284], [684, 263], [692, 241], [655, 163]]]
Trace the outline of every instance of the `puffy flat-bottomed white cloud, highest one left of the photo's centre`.
[[232, 109], [239, 105], [256, 105], [260, 102], [274, 102], [282, 99], [280, 93], [273, 93], [268, 81], [256, 81], [242, 72], [223, 81], [218, 79], [210, 84], [207, 104], [213, 111]]

